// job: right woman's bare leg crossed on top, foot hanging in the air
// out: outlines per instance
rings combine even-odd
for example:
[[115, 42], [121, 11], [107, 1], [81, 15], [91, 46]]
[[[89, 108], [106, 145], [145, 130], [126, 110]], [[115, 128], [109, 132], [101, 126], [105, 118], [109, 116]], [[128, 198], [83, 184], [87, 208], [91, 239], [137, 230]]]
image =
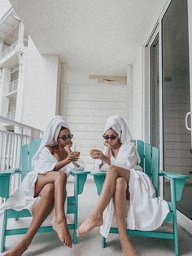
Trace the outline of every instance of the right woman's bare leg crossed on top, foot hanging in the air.
[[111, 197], [114, 196], [116, 190], [116, 179], [120, 177], [124, 178], [128, 182], [130, 170], [126, 170], [118, 166], [110, 166], [107, 170], [107, 175], [105, 182], [103, 183], [103, 189], [98, 199], [98, 203], [89, 218], [85, 219], [85, 222], [77, 229], [77, 236], [83, 236], [94, 227], [98, 227], [103, 224], [103, 211], [107, 207]]

